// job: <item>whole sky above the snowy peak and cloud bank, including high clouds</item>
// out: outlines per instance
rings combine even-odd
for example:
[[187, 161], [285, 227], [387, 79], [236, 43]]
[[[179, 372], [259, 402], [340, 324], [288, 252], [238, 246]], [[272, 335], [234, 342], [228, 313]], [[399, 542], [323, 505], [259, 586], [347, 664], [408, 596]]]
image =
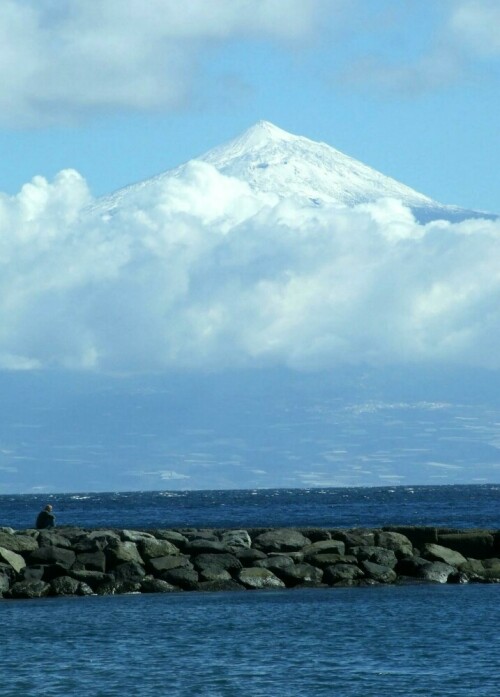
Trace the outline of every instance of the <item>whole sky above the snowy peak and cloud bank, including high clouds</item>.
[[259, 119], [444, 203], [497, 211], [496, 0], [6, 0], [0, 191], [94, 195]]

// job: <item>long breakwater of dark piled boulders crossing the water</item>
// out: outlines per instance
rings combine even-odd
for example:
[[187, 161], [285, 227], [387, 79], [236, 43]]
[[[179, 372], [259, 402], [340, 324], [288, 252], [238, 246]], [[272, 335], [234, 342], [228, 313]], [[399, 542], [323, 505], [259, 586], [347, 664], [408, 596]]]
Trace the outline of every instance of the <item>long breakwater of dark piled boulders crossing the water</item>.
[[500, 583], [500, 531], [0, 528], [0, 597]]

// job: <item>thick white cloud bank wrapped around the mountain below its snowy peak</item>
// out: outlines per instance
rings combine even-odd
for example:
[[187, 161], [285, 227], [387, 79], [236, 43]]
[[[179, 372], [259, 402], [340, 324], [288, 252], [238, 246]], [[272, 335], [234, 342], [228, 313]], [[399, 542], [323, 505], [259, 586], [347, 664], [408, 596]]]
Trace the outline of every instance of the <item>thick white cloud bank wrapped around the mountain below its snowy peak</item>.
[[107, 211], [0, 195], [0, 368], [500, 367], [500, 222], [258, 195], [193, 161]]

